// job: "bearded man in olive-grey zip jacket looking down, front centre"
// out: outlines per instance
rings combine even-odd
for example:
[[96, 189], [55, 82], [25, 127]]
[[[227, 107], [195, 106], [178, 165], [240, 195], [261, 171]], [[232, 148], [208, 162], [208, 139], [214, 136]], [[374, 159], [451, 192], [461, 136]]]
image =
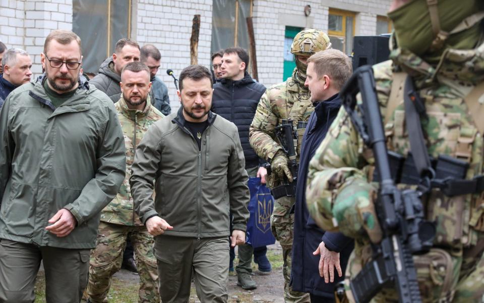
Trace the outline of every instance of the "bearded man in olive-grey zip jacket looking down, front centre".
[[193, 271], [202, 302], [226, 302], [229, 212], [232, 247], [245, 243], [249, 218], [244, 152], [237, 127], [210, 112], [210, 71], [191, 65], [179, 83], [178, 113], [155, 122], [136, 148], [131, 193], [156, 236], [161, 300], [187, 302]]

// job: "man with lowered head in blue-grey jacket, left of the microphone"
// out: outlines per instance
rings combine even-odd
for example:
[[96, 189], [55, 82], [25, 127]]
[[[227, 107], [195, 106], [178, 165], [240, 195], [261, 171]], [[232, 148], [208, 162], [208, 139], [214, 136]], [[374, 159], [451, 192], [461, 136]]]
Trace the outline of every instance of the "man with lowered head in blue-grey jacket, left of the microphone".
[[165, 83], [156, 76], [160, 68], [161, 53], [153, 44], [146, 44], [141, 47], [141, 63], [150, 69], [151, 92], [154, 99], [151, 99], [153, 106], [163, 115], [171, 114], [170, 98], [168, 97], [168, 88]]

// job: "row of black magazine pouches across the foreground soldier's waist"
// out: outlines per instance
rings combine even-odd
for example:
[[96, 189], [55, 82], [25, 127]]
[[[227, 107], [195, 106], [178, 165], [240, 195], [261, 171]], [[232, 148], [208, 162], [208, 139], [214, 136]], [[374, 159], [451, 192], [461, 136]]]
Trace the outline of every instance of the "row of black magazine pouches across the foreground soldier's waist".
[[[446, 155], [439, 155], [437, 159], [431, 158], [434, 177], [422, 184], [422, 178], [417, 173], [415, 162], [409, 153], [405, 158], [402, 155], [388, 151], [390, 171], [395, 183], [409, 185], [424, 185], [428, 188], [439, 188], [446, 196], [462, 194], [479, 194], [484, 192], [484, 175], [478, 175], [470, 180], [465, 176], [469, 164]], [[378, 170], [373, 174], [373, 181], [379, 182]]]

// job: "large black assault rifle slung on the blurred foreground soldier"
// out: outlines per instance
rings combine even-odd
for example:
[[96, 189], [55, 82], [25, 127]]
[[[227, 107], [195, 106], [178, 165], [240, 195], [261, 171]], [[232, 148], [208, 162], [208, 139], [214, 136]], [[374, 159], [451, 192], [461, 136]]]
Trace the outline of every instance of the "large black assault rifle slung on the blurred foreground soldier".
[[[361, 104], [356, 102], [358, 92]], [[424, 219], [421, 192], [400, 190], [391, 177], [372, 68], [358, 68], [340, 96], [353, 126], [372, 148], [380, 176], [375, 210], [383, 231], [382, 240], [372, 244], [372, 261], [350, 281], [351, 292], [356, 302], [368, 302], [383, 287], [391, 287], [396, 289], [400, 302], [421, 302], [412, 255], [425, 253], [432, 247], [435, 226]]]

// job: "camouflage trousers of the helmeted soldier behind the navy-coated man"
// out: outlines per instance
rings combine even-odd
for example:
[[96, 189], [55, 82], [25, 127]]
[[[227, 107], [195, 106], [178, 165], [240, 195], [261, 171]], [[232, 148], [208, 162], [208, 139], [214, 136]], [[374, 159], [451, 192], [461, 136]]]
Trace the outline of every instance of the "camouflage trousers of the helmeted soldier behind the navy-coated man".
[[[309, 293], [293, 291], [289, 286], [291, 277], [292, 239], [294, 233], [294, 214], [289, 213], [290, 205], [294, 204], [294, 198], [282, 197], [274, 202], [274, 210], [271, 216], [272, 234], [282, 247], [282, 274], [284, 275], [284, 302], [306, 303], [311, 302]], [[289, 206], [289, 209], [287, 209]], [[282, 209], [286, 209], [282, 214]]]

